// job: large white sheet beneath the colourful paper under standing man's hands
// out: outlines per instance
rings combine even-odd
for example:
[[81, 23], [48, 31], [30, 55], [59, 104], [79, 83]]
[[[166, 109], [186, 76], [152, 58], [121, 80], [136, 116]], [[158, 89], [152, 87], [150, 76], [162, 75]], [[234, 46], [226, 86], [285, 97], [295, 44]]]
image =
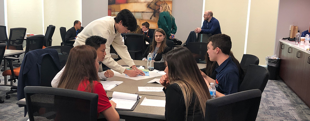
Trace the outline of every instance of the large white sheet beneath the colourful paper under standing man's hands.
[[112, 70], [114, 72], [114, 76], [117, 76], [117, 77], [124, 77], [124, 78], [129, 78], [129, 79], [133, 79], [133, 80], [141, 80], [141, 79], [148, 79], [148, 78], [153, 78], [153, 77], [160, 77], [162, 75], [164, 75], [163, 73], [156, 73], [158, 71], [149, 71], [149, 75], [150, 76], [136, 76], [136, 77], [129, 77], [127, 76], [125, 73], [123, 74], [120, 74], [114, 70]]

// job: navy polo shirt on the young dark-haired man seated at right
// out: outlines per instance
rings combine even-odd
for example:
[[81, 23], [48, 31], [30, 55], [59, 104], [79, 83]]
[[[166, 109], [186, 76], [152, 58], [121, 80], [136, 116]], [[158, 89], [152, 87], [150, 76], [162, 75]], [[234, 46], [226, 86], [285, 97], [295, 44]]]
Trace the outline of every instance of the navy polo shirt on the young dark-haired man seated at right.
[[225, 95], [238, 92], [239, 70], [230, 56], [215, 69], [215, 73], [216, 91]]

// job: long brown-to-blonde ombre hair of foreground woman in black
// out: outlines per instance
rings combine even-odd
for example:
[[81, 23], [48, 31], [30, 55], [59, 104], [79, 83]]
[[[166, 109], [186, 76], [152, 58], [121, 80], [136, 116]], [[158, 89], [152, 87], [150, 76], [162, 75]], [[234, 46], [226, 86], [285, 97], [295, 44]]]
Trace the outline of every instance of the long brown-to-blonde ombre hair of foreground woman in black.
[[179, 47], [167, 52], [164, 59], [168, 66], [169, 83], [176, 83], [181, 87], [186, 107], [185, 120], [193, 93], [196, 95], [194, 108], [198, 105], [205, 117], [206, 101], [211, 99], [211, 95], [192, 53], [187, 48]]

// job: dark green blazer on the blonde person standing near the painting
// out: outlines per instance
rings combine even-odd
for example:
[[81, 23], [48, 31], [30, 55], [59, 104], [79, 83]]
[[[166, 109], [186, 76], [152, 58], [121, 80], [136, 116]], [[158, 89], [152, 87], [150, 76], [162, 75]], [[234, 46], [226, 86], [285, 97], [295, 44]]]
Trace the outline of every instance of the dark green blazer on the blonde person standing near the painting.
[[[166, 33], [166, 38], [168, 40], [171, 34], [175, 34], [177, 27], [175, 25], [175, 18], [173, 16], [170, 16], [168, 11], [161, 12], [159, 14], [159, 19], [158, 19], [158, 28], [161, 28], [165, 31]], [[155, 33], [154, 33], [155, 34]]]

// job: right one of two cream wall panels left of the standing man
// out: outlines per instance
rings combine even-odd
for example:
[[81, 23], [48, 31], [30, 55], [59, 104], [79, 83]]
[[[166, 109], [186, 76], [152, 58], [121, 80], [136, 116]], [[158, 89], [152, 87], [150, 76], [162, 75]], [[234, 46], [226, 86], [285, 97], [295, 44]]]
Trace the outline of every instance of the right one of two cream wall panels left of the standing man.
[[48, 25], [56, 27], [52, 46], [60, 45], [62, 42], [59, 28], [66, 27], [68, 30], [73, 27], [75, 20], [82, 22], [81, 0], [44, 0], [44, 32]]

